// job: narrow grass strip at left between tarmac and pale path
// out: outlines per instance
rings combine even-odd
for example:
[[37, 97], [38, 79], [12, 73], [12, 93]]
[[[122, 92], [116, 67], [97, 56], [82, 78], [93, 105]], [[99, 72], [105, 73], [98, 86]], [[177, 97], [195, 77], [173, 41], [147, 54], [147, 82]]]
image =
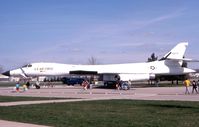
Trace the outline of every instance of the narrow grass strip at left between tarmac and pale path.
[[56, 100], [67, 98], [54, 98], [54, 97], [19, 97], [19, 96], [1, 96], [0, 102], [15, 102], [15, 101], [39, 101], [39, 100]]

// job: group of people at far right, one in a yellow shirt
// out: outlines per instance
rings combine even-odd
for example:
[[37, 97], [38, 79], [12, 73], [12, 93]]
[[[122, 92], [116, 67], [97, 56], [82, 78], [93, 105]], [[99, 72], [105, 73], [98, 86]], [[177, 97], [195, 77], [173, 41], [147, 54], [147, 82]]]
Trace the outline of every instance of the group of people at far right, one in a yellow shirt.
[[189, 86], [192, 85], [192, 94], [194, 92], [198, 93], [199, 92], [199, 80], [195, 81], [193, 80], [192, 82], [189, 79], [186, 79], [183, 84], [185, 85], [185, 94], [190, 94], [189, 92]]

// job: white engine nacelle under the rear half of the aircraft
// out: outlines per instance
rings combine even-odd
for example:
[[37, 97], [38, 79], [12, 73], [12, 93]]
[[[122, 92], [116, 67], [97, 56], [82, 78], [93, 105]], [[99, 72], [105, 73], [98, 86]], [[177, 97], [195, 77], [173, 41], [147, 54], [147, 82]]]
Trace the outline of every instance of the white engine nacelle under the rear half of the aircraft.
[[155, 79], [155, 74], [119, 74], [122, 81], [141, 81]]

